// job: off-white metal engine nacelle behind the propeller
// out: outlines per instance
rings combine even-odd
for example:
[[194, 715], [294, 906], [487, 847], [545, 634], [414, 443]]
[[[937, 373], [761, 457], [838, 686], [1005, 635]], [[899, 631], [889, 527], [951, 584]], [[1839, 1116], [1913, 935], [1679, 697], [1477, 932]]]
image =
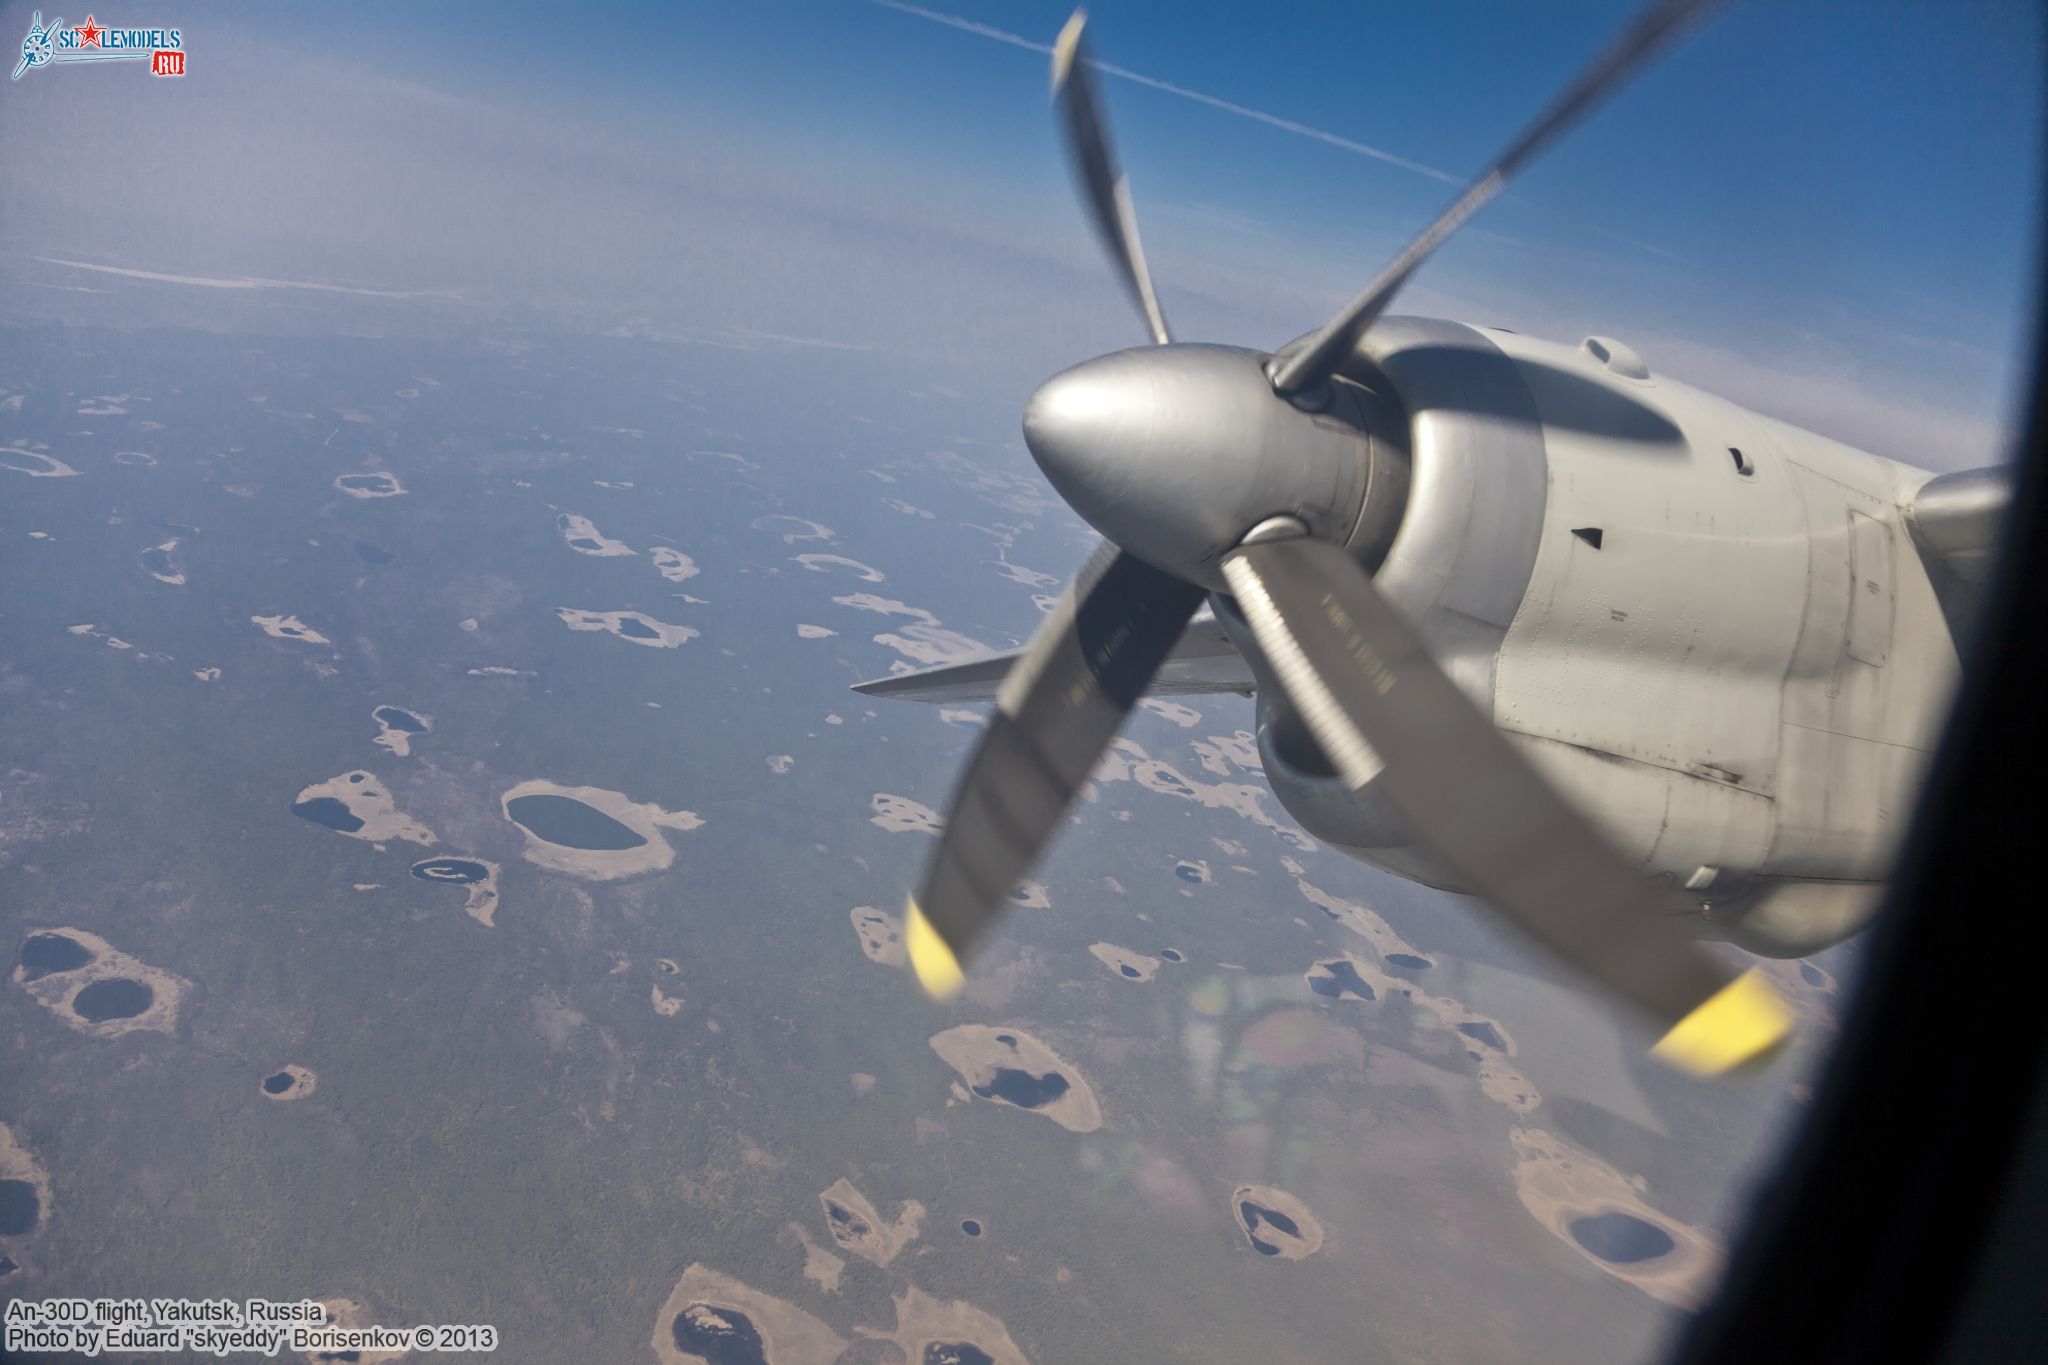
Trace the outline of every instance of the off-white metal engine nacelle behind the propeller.
[[[1876, 673], [1864, 659], [1884, 659], [1843, 606], [1849, 512], [1780, 452], [1821, 438], [1761, 428], [1632, 356], [1618, 364], [1612, 342], [1579, 352], [1438, 319], [1374, 325], [1348, 379], [1405, 413], [1407, 495], [1376, 561], [1350, 548], [1622, 857], [1698, 898], [1702, 933], [1767, 956], [1827, 948], [1868, 921], [1890, 847], [1878, 817], [1833, 812], [1866, 788], [1898, 810], [1905, 782], [1874, 767], [1843, 786], [1845, 765], [1806, 753], [1819, 729], [1788, 692], [1812, 673], [1823, 700], [1839, 690], [1847, 706]], [[1843, 446], [1800, 450], [1884, 477]], [[1214, 610], [1257, 677], [1260, 757], [1288, 814], [1364, 862], [1464, 890], [1376, 784], [1335, 776], [1235, 606]], [[1909, 767], [1896, 739], [1864, 741], [1868, 718], [1821, 720], [1835, 749]], [[1892, 731], [1911, 745], [1921, 720], [1901, 712]]]

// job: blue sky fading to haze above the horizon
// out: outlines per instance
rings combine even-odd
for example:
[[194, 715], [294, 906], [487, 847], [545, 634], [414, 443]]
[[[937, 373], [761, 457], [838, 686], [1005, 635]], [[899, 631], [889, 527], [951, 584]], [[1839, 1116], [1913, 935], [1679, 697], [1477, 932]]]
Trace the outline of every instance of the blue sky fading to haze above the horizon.
[[[0, 8], [10, 41], [31, 8]], [[1143, 342], [1030, 49], [1067, 8], [918, 8], [109, 10], [176, 23], [188, 76], [0, 88], [0, 278], [31, 287], [18, 311], [98, 319], [868, 348], [1022, 407]], [[1157, 82], [1104, 90], [1176, 334], [1272, 348], [1319, 325], [1630, 12], [1096, 6], [1098, 59]], [[1880, 454], [2005, 458], [2034, 342], [2042, 47], [2034, 4], [1726, 4], [1397, 311], [1618, 336]]]

